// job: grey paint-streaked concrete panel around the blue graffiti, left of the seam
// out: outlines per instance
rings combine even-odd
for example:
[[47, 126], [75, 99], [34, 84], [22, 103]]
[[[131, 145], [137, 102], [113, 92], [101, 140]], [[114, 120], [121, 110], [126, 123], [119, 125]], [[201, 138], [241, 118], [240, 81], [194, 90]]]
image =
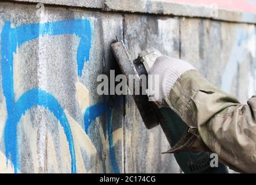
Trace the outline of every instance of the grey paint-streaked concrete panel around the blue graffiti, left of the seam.
[[[61, 24], [65, 24], [68, 20], [89, 21], [91, 29], [85, 31], [88, 32], [86, 36], [89, 36], [89, 32], [92, 34], [90, 59], [85, 62], [81, 76], [78, 75], [76, 63], [79, 43], [83, 41], [76, 34], [75, 29], [82, 29], [82, 23], [78, 23], [74, 28], [68, 26], [67, 29], [71, 29], [70, 34], [39, 36], [23, 43], [16, 52], [13, 52], [14, 98], [18, 101], [31, 89], [41, 88], [57, 99], [71, 127], [76, 150], [76, 172], [123, 172], [122, 99], [120, 105], [116, 103], [112, 109], [109, 109], [108, 97], [99, 96], [96, 91], [97, 76], [108, 73], [109, 69], [115, 66], [112, 56], [109, 56], [109, 45], [114, 41], [115, 36], [122, 39], [122, 16], [47, 8], [43, 17], [37, 17], [35, 8], [31, 5], [13, 6], [9, 3], [1, 3], [1, 8], [1, 40], [8, 36], [2, 32], [3, 25], [6, 25], [7, 21], [13, 28], [40, 23], [41, 27], [32, 27], [28, 28], [27, 32], [24, 29], [24, 32], [15, 33], [14, 35], [20, 39], [27, 39], [27, 35], [34, 32], [42, 32], [47, 23], [53, 23], [50, 28], [54, 29], [58, 27], [54, 25], [58, 21], [61, 21]], [[14, 40], [11, 42], [16, 44]], [[105, 64], [103, 64], [104, 58]], [[2, 83], [0, 87], [1, 125], [6, 125], [10, 112], [7, 112], [4, 106], [8, 102], [3, 95]], [[36, 97], [40, 98], [39, 95]], [[35, 99], [28, 98], [24, 103], [26, 105], [34, 101]], [[119, 100], [112, 98], [112, 101]], [[92, 110], [90, 107], [93, 107]], [[89, 110], [90, 117], [86, 119], [85, 114]], [[87, 133], [86, 121], [91, 123]], [[19, 152], [16, 156], [19, 157], [17, 172], [71, 172], [71, 156], [65, 139], [65, 127], [61, 127], [60, 124], [52, 110], [39, 105], [32, 106], [23, 114], [17, 123], [15, 134], [18, 141], [16, 150]], [[5, 146], [8, 142], [3, 134], [3, 128], [1, 127], [0, 136], [1, 160], [4, 160], [2, 155], [5, 154]], [[112, 154], [109, 154], [111, 152]], [[1, 168], [5, 166], [6, 163]], [[13, 168], [9, 166], [8, 169]]]

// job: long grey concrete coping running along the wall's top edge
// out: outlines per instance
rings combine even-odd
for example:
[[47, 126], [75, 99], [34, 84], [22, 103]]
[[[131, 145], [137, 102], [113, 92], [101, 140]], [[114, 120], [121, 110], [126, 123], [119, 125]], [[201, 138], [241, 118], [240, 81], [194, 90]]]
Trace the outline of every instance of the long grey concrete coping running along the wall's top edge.
[[[131, 13], [149, 13], [164, 14], [169, 16], [185, 16], [185, 17], [204, 17], [215, 20], [232, 21], [238, 23], [256, 23], [256, 15], [254, 13], [237, 12], [234, 10], [218, 9], [215, 10], [209, 6], [188, 5], [177, 2], [161, 2], [154, 0], [9, 0], [21, 2], [42, 2], [52, 5], [78, 6], [84, 8], [98, 8], [105, 11], [131, 12]], [[217, 16], [216, 16], [217, 15]]]

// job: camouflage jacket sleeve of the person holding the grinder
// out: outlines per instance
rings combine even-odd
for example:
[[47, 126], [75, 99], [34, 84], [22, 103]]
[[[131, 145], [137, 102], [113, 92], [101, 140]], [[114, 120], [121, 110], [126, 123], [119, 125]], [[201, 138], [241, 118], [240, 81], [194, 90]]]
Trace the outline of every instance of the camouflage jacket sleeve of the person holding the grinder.
[[190, 70], [175, 82], [167, 103], [224, 164], [256, 172], [255, 96], [243, 105]]

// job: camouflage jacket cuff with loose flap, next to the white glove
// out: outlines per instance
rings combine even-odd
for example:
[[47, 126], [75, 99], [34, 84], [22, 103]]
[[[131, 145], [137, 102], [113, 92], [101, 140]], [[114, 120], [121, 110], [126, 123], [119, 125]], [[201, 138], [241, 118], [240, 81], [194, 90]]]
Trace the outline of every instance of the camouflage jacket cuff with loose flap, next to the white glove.
[[191, 100], [192, 96], [204, 87], [211, 87], [210, 84], [198, 71], [191, 69], [183, 73], [171, 88], [167, 95], [166, 102], [171, 109], [188, 125], [188, 130], [182, 138], [166, 153], [177, 153], [181, 151], [210, 151], [204, 144], [199, 132], [195, 115], [195, 104]]

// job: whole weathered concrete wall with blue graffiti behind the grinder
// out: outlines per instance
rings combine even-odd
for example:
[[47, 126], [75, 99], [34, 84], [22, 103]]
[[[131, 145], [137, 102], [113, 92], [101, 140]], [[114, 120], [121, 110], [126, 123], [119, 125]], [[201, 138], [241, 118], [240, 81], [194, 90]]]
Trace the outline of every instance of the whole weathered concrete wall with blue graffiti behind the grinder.
[[0, 3], [0, 172], [180, 172], [172, 154], [160, 154], [169, 149], [162, 129], [145, 128], [132, 97], [97, 95], [97, 76], [118, 69], [115, 36], [133, 58], [153, 46], [243, 103], [255, 94], [253, 14], [193, 18], [159, 14], [162, 3], [150, 1], [131, 11], [110, 0], [45, 0], [38, 17], [38, 1], [19, 1]]

